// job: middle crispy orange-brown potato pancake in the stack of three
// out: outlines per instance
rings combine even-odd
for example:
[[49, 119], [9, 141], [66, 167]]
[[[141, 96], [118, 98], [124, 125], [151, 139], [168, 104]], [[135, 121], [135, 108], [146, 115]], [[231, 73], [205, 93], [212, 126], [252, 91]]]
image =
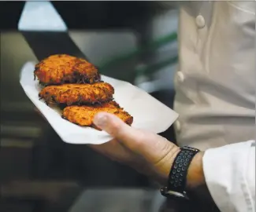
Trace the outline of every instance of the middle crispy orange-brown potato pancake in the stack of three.
[[39, 98], [46, 104], [95, 104], [113, 99], [114, 89], [107, 82], [94, 84], [63, 84], [46, 86], [39, 93]]

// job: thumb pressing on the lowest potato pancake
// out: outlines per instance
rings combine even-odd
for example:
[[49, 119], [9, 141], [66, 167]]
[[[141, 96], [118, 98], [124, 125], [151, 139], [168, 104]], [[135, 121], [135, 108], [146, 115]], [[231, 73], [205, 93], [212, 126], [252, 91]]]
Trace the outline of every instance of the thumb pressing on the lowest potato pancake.
[[110, 136], [116, 138], [131, 149], [136, 148], [135, 146], [139, 141], [139, 137], [141, 137], [139, 130], [135, 130], [116, 115], [107, 112], [99, 112], [95, 115], [93, 122], [100, 129], [106, 131]]

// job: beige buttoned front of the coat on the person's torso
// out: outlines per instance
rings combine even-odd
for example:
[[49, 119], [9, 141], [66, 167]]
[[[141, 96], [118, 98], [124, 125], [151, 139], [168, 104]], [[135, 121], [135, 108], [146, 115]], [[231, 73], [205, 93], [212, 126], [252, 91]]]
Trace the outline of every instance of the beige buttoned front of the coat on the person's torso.
[[254, 139], [255, 2], [180, 2], [177, 143]]

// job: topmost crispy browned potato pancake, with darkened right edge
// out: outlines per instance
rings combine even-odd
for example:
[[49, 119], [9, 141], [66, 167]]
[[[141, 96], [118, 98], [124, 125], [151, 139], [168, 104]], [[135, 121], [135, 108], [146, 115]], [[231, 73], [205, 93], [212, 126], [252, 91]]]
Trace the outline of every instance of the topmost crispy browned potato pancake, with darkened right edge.
[[56, 54], [35, 65], [34, 76], [43, 86], [100, 81], [98, 69], [87, 60], [67, 54]]

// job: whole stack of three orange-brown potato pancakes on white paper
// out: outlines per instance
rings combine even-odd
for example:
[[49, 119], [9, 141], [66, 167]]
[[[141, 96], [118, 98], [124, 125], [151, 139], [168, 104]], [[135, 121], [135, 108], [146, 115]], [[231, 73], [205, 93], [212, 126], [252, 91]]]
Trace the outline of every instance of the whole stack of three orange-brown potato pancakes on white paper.
[[114, 89], [101, 80], [98, 69], [87, 60], [58, 54], [47, 57], [35, 65], [34, 75], [44, 86], [39, 98], [46, 104], [58, 104], [62, 118], [80, 126], [91, 126], [99, 111], [117, 115], [128, 125], [133, 118], [113, 101]]

